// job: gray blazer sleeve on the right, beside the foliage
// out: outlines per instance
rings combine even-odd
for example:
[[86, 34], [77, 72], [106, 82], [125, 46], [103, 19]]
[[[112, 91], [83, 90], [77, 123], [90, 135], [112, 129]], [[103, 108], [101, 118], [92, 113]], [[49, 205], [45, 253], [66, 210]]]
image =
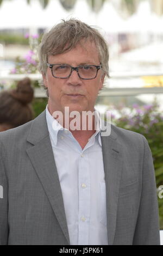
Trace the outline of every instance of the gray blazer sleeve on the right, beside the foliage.
[[151, 149], [143, 137], [142, 193], [133, 245], [160, 245], [159, 209]]

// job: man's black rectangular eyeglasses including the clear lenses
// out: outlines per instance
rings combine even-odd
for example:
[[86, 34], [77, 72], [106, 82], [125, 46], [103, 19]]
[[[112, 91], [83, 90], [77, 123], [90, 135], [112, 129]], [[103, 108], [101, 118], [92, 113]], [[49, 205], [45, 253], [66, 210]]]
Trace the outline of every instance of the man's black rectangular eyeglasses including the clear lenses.
[[67, 64], [47, 63], [47, 66], [51, 68], [52, 75], [55, 78], [61, 78], [61, 79], [69, 78], [72, 74], [72, 71], [76, 70], [78, 73], [78, 76], [84, 80], [90, 80], [90, 79], [96, 78], [98, 70], [102, 68], [101, 64], [99, 66], [80, 65], [80, 66], [74, 67]]

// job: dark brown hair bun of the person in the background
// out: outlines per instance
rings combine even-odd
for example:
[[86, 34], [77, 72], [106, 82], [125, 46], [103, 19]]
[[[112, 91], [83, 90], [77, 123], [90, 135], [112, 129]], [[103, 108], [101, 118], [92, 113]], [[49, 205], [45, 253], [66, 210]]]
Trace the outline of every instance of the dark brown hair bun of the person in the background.
[[34, 97], [34, 90], [31, 86], [31, 81], [28, 77], [24, 78], [17, 83], [17, 88], [11, 90], [11, 96], [14, 99], [20, 101], [22, 104], [28, 104], [32, 102]]

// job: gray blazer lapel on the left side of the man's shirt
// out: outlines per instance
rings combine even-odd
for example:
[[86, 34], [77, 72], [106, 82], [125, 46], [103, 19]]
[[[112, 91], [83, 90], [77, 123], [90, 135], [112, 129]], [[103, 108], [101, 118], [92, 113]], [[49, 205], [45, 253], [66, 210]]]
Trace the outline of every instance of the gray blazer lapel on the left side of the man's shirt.
[[27, 141], [33, 144], [32, 147], [27, 149], [27, 154], [39, 176], [67, 242], [70, 244], [64, 202], [48, 134], [45, 111], [33, 121]]

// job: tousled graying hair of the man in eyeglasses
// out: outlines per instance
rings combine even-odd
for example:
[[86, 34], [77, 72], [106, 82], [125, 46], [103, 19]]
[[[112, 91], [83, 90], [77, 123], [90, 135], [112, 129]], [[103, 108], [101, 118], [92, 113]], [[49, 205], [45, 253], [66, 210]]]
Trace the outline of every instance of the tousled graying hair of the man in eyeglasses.
[[[102, 69], [104, 74], [109, 77], [109, 51], [106, 41], [96, 28], [76, 19], [62, 20], [51, 31], [43, 35], [39, 45], [40, 72], [46, 75], [49, 56], [68, 52], [82, 40], [87, 39], [95, 42]], [[44, 88], [47, 89], [45, 86]]]

